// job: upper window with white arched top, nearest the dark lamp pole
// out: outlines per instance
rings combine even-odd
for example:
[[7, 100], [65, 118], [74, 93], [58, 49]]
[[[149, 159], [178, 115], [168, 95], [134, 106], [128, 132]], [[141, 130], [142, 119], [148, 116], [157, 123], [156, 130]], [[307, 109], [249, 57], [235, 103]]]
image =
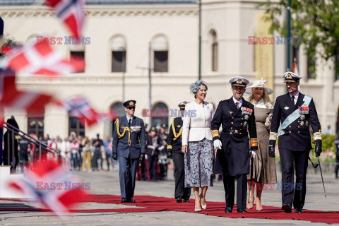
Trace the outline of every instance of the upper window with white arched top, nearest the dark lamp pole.
[[168, 42], [164, 36], [155, 37], [152, 42], [153, 68], [155, 72], [168, 71]]

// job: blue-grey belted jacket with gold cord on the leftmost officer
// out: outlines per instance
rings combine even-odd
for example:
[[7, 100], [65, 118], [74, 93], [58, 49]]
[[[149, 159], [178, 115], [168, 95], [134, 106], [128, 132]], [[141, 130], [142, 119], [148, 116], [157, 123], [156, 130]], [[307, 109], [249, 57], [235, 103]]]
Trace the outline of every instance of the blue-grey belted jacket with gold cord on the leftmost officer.
[[[118, 133], [119, 132], [119, 133]], [[145, 153], [145, 126], [143, 119], [133, 116], [131, 127], [126, 115], [114, 123], [112, 153], [136, 159]]]

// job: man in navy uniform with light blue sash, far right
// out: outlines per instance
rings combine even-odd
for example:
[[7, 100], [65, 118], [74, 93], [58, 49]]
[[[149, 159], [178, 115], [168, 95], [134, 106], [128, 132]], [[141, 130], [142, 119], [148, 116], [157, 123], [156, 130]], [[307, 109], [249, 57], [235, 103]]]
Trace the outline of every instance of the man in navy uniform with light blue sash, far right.
[[[283, 168], [282, 209], [285, 213], [292, 213], [293, 204], [295, 213], [302, 213], [306, 195], [307, 160], [312, 148], [309, 124], [314, 131], [316, 157], [321, 153], [321, 126], [312, 97], [299, 93], [299, 79], [302, 76], [287, 71], [284, 78], [288, 93], [277, 97], [275, 101], [268, 154], [275, 157], [275, 140], [281, 121], [279, 153]], [[297, 177], [295, 184], [293, 162]]]

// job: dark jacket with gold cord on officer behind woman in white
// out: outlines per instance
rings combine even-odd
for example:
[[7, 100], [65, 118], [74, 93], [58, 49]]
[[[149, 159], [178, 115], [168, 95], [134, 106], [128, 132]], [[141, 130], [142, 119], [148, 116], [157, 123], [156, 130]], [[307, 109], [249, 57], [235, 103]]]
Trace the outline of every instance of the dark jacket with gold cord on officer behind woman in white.
[[182, 117], [172, 120], [167, 138], [167, 152], [182, 153]]

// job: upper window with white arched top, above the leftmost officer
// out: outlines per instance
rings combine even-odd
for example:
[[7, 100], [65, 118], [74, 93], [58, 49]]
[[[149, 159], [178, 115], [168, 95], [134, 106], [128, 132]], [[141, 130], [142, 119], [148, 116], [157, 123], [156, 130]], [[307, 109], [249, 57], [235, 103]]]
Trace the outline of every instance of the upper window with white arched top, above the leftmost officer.
[[112, 39], [112, 72], [126, 72], [126, 40], [122, 36]]

